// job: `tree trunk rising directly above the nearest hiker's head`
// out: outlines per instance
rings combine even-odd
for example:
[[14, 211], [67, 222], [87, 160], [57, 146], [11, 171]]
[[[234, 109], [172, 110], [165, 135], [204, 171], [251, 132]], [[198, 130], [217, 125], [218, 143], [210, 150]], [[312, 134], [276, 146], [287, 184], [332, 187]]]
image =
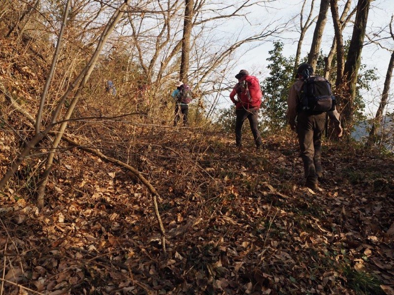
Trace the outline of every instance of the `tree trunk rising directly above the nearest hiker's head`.
[[323, 31], [327, 23], [327, 12], [329, 7], [329, 0], [321, 0], [319, 17], [316, 21], [315, 31], [313, 33], [311, 50], [308, 55], [308, 63], [313, 69], [316, 69], [317, 58], [320, 52], [320, 45], [322, 44]]

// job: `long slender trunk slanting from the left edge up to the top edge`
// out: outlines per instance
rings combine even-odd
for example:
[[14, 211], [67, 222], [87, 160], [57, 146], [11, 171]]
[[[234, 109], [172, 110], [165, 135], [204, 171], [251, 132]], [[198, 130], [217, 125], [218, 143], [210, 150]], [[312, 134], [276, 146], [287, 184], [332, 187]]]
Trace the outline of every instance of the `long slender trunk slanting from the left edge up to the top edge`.
[[[100, 52], [102, 50], [102, 47], [104, 46], [106, 40], [108, 39], [109, 34], [112, 32], [112, 30], [114, 29], [115, 25], [119, 22], [120, 18], [124, 14], [123, 9], [126, 8], [126, 6], [128, 5], [129, 1], [130, 0], [128, 0], [125, 3], [122, 3], [119, 6], [119, 8], [114, 12], [114, 14], [112, 15], [110, 21], [107, 23], [106, 27], [104, 28], [104, 30], [103, 30], [103, 32], [101, 34], [101, 37], [100, 37], [100, 40], [99, 40], [99, 43], [97, 45], [95, 53], [93, 54], [92, 58], [89, 60], [88, 64], [85, 66], [85, 68], [81, 71], [81, 73], [75, 79], [75, 81], [66, 90], [66, 93], [64, 94], [64, 96], [60, 100], [60, 102], [59, 102], [57, 108], [55, 109], [55, 111], [53, 112], [51, 122], [48, 124], [48, 126], [45, 128], [45, 130], [37, 133], [33, 137], [33, 139], [26, 144], [25, 148], [23, 148], [23, 150], [19, 154], [17, 160], [12, 164], [11, 168], [6, 172], [4, 177], [0, 180], [0, 189], [2, 189], [4, 187], [4, 185], [7, 183], [7, 181], [9, 180], [9, 178], [11, 178], [15, 174], [15, 172], [17, 171], [19, 165], [21, 165], [21, 163], [25, 160], [26, 156], [29, 154], [31, 149], [34, 148], [35, 145], [39, 141], [41, 141], [52, 130], [52, 128], [56, 125], [56, 120], [57, 120], [57, 117], [58, 117], [58, 115], [60, 113], [62, 105], [66, 101], [66, 99], [67, 99], [68, 95], [71, 93], [72, 89], [74, 89], [75, 86], [82, 79], [83, 80], [82, 80], [82, 82], [80, 84], [80, 87], [81, 87], [81, 85], [85, 85], [86, 84], [86, 81], [89, 79], [90, 73], [92, 72], [92, 70], [93, 70], [93, 68], [94, 68], [94, 66], [96, 64], [96, 61], [97, 61], [97, 59], [99, 57], [99, 54], [100, 54]], [[81, 90], [81, 88], [78, 89], [75, 97], [79, 98], [78, 95], [81, 94], [80, 90]], [[74, 99], [75, 99], [75, 97], [74, 97]]]

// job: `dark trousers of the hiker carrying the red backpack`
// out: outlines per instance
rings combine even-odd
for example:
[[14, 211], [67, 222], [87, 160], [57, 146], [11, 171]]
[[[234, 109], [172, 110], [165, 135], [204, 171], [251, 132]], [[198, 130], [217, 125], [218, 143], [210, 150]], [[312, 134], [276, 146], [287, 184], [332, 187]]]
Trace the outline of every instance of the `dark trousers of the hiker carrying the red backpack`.
[[253, 133], [253, 138], [255, 139], [255, 144], [257, 148], [260, 148], [262, 145], [262, 137], [260, 135], [258, 126], [259, 119], [259, 111], [255, 108], [253, 109], [240, 109], [235, 110], [237, 115], [235, 119], [235, 143], [237, 147], [241, 147], [242, 145], [242, 125], [243, 122], [248, 118], [250, 129]]

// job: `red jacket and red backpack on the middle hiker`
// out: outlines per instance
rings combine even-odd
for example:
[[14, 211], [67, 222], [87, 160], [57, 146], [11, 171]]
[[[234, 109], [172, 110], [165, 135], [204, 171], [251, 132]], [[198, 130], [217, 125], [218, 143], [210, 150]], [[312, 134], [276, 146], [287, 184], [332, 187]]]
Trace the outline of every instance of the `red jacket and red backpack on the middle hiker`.
[[[243, 81], [246, 81], [246, 83], [248, 84], [251, 101], [249, 100], [246, 89], [240, 87], [240, 83]], [[238, 100], [235, 100], [235, 94], [238, 95]], [[260, 88], [259, 79], [257, 79], [255, 76], [249, 75], [242, 77], [230, 93], [230, 99], [235, 104], [235, 108], [237, 110], [260, 108], [260, 105], [262, 103], [262, 97], [263, 93]]]

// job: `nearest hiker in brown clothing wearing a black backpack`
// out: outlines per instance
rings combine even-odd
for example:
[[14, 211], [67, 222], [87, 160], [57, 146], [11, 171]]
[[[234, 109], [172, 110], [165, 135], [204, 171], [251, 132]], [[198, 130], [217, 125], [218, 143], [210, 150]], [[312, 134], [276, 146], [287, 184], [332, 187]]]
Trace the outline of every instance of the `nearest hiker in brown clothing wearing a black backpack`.
[[331, 85], [327, 79], [313, 75], [313, 68], [308, 63], [301, 63], [297, 69], [297, 80], [289, 91], [287, 105], [288, 122], [298, 135], [305, 186], [316, 190], [318, 179], [323, 176], [321, 137], [326, 124], [326, 113], [334, 123], [336, 135], [342, 136]]

